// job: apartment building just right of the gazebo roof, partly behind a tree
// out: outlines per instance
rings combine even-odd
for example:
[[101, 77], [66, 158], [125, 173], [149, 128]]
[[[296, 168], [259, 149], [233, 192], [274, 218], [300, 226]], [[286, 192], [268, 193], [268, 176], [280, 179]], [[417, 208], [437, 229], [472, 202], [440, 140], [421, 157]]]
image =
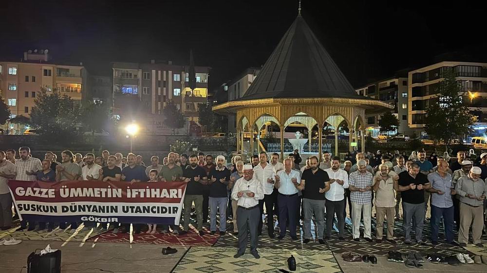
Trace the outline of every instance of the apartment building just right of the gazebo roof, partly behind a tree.
[[[399, 120], [399, 127], [397, 132], [390, 133], [406, 135], [411, 133], [408, 127], [408, 78], [405, 75], [370, 83], [357, 88], [356, 92], [361, 96], [371, 97], [394, 106], [391, 113]], [[379, 119], [379, 115], [368, 115], [365, 119], [367, 131], [372, 136], [377, 136], [380, 133]]]

